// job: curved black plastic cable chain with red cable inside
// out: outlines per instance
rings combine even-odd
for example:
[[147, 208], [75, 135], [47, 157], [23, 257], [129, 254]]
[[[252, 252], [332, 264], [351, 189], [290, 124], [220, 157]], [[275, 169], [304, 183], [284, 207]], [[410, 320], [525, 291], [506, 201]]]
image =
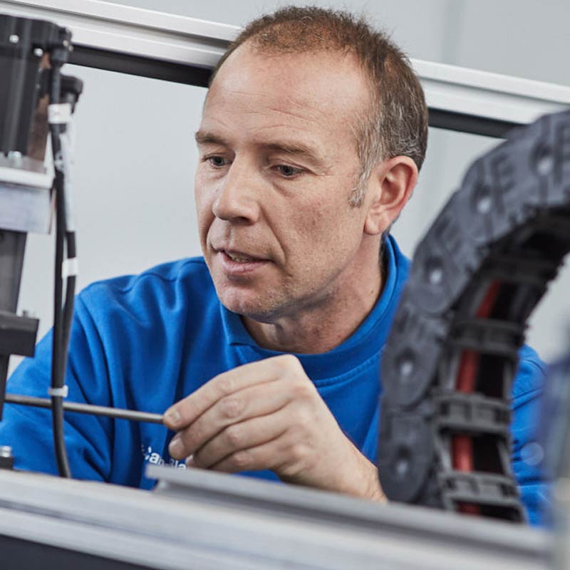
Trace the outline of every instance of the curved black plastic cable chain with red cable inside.
[[570, 112], [477, 160], [420, 242], [382, 356], [389, 499], [521, 522], [510, 389], [529, 314], [570, 249]]

